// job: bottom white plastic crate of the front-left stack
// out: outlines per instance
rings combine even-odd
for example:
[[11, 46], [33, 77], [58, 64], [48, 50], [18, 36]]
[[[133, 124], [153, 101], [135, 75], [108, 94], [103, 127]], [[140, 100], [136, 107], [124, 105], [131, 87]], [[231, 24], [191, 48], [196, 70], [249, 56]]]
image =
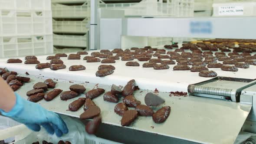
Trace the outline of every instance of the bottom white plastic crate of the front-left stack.
[[0, 58], [51, 53], [53, 53], [53, 35], [0, 37]]

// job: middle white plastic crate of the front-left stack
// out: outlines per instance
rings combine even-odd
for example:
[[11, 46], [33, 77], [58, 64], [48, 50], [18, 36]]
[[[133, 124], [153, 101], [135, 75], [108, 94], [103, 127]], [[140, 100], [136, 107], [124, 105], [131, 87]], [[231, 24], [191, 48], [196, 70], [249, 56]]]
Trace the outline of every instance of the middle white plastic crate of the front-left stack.
[[53, 33], [50, 10], [0, 10], [0, 36]]

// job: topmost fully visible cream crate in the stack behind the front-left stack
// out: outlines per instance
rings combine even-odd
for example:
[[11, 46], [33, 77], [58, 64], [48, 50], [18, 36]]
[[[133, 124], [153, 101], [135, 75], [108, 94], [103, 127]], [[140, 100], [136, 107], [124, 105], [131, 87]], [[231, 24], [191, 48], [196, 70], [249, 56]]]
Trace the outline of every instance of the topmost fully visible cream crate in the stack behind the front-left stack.
[[63, 4], [52, 4], [53, 18], [86, 18], [90, 17], [88, 3], [81, 6], [67, 6]]

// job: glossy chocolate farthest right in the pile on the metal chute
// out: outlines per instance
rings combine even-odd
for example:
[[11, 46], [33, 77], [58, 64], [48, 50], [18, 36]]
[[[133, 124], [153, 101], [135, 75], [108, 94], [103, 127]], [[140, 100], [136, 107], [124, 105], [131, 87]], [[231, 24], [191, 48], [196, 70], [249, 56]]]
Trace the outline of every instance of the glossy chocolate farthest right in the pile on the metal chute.
[[152, 115], [152, 119], [155, 123], [162, 123], [169, 117], [170, 113], [171, 113], [171, 107], [165, 106], [159, 109], [157, 112], [155, 112]]

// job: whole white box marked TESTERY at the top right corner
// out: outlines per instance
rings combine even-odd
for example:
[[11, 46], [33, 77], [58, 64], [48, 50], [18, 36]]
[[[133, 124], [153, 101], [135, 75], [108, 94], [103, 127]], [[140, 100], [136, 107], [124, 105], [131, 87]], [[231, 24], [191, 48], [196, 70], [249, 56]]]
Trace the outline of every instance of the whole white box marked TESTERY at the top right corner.
[[213, 16], [256, 16], [255, 1], [213, 3]]

